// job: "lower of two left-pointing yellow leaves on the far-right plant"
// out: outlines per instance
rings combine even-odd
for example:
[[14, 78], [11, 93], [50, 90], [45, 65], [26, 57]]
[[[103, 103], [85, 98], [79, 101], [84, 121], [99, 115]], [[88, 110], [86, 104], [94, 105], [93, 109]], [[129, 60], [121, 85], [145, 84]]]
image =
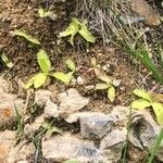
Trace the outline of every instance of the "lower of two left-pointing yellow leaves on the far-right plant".
[[133, 109], [143, 110], [148, 106], [151, 106], [151, 102], [143, 100], [143, 99], [138, 99], [138, 100], [133, 101], [130, 106]]

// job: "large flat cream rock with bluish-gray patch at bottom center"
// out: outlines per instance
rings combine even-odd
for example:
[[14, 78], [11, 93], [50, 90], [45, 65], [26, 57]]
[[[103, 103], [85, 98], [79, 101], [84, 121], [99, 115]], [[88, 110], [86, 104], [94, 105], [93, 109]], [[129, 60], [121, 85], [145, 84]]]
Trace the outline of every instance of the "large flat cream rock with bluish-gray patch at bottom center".
[[47, 160], [63, 162], [77, 159], [82, 163], [92, 162], [98, 154], [93, 142], [86, 141], [66, 133], [42, 141], [42, 154]]

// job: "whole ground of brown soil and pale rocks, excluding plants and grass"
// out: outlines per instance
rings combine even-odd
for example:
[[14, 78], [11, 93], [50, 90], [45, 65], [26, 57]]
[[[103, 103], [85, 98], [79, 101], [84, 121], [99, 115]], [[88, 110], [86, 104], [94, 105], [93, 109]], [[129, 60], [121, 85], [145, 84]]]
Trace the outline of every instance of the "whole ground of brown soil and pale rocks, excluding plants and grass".
[[[39, 17], [39, 7], [50, 8], [51, 17]], [[68, 0], [0, 2], [0, 52], [14, 64], [7, 68], [0, 61], [0, 163], [63, 163], [66, 160], [118, 163], [123, 162], [125, 147], [127, 162], [143, 163], [148, 159], [161, 126], [149, 110], [133, 110], [130, 114], [129, 104], [135, 88], [162, 92], [163, 87], [143, 65], [133, 62], [133, 58], [113, 45], [103, 47], [100, 38], [89, 50], [83, 40], [76, 40], [75, 48], [66, 39], [60, 40], [58, 36], [70, 23], [73, 7], [75, 1]], [[156, 20], [153, 24], [161, 22]], [[40, 47], [13, 36], [12, 32], [17, 28], [40, 40], [54, 70], [66, 71], [65, 60], [74, 60], [76, 72], [68, 86], [48, 79], [40, 89], [23, 88], [24, 83], [39, 72], [36, 53]], [[113, 78], [116, 89], [113, 102], [105, 91], [95, 89], [99, 79], [90, 63], [93, 58], [101, 71]], [[158, 150], [154, 162], [163, 162], [163, 147]]]

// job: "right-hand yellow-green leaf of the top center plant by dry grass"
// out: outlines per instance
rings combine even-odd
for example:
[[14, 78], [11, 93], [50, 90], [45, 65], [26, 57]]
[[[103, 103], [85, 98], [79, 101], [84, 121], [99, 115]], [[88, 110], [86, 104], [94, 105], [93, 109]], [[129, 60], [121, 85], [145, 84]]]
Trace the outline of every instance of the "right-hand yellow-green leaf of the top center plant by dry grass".
[[80, 29], [78, 33], [88, 41], [91, 43], [96, 42], [96, 38], [91, 35], [91, 33], [88, 30], [87, 26], [85, 23], [82, 23]]

